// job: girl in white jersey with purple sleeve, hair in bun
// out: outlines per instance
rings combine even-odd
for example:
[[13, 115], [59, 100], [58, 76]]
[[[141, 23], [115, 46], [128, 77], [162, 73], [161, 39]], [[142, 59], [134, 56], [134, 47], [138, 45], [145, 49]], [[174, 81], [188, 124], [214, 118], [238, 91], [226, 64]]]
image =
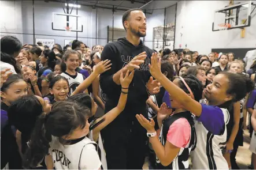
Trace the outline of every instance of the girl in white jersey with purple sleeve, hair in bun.
[[[161, 73], [161, 62], [158, 61], [156, 53], [151, 57], [150, 73], [164, 86], [172, 99], [196, 116], [197, 143], [195, 150], [191, 153], [193, 169], [228, 169], [227, 161], [221, 153], [227, 140], [225, 122], [228, 119], [228, 111], [220, 107], [243, 99], [246, 93], [254, 89], [253, 82], [239, 74], [220, 73], [213, 78], [212, 84], [206, 87], [205, 97], [209, 105], [205, 105], [192, 99], [191, 95], [185, 93]], [[151, 120], [150, 123], [153, 121]], [[149, 133], [153, 132], [149, 131]], [[150, 138], [151, 143], [156, 141], [158, 141], [156, 137]], [[161, 143], [156, 147], [158, 147], [156, 154], [160, 160], [159, 154], [164, 152], [165, 155], [164, 147]]]

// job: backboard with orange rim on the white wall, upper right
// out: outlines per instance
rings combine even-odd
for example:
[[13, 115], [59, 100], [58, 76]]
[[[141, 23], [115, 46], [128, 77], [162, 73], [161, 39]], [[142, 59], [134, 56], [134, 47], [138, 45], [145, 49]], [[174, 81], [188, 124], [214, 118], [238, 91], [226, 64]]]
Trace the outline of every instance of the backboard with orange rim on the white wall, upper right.
[[250, 27], [251, 13], [256, 12], [255, 7], [251, 1], [243, 1], [214, 11], [212, 31], [220, 31], [221, 25], [226, 25], [227, 29]]

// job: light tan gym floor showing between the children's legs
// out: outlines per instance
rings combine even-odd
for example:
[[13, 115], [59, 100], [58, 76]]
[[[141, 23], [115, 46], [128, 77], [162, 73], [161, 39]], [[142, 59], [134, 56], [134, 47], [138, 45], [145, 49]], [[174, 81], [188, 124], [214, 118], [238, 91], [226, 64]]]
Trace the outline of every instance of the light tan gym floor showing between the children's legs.
[[[236, 154], [236, 163], [240, 169], [248, 169], [248, 165], [251, 164], [251, 152], [249, 150], [251, 138], [249, 136], [248, 130], [244, 130], [243, 138], [243, 146], [239, 146], [238, 153]], [[145, 159], [143, 169], [149, 169], [148, 157]]]

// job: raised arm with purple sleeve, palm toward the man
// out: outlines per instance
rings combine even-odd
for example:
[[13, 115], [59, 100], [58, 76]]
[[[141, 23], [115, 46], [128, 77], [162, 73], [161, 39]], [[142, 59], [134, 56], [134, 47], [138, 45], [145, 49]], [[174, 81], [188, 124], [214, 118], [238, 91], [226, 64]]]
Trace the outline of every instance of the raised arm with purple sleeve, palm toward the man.
[[220, 134], [224, 125], [224, 114], [218, 107], [203, 105], [187, 95], [182, 89], [173, 84], [164, 74], [161, 73], [161, 59], [157, 59], [157, 54], [151, 57], [150, 73], [168, 91], [170, 96], [175, 98], [184, 109], [190, 111], [198, 120], [203, 123], [205, 128], [213, 134]]

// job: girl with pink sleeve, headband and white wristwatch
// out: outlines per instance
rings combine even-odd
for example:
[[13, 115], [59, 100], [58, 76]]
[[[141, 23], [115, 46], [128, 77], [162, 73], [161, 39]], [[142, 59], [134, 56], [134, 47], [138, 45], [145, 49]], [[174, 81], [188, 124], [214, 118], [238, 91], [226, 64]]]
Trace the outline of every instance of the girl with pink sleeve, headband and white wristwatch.
[[[173, 83], [184, 90], [185, 93], [188, 93], [192, 99], [196, 101], [201, 99], [203, 85], [193, 75], [176, 78]], [[159, 149], [158, 141], [151, 142], [157, 156], [156, 169], [189, 169], [188, 157], [192, 146], [196, 144], [194, 116], [192, 116], [191, 112], [183, 109], [175, 98], [170, 97], [171, 100], [168, 92], [166, 92], [163, 99], [168, 104], [169, 109], [164, 103], [157, 114], [158, 126], [161, 129], [159, 141], [164, 146], [166, 156], [159, 152], [161, 149]], [[173, 113], [172, 109], [175, 109]], [[136, 117], [147, 131], [154, 131], [154, 123], [151, 124], [142, 115], [137, 115]]]

